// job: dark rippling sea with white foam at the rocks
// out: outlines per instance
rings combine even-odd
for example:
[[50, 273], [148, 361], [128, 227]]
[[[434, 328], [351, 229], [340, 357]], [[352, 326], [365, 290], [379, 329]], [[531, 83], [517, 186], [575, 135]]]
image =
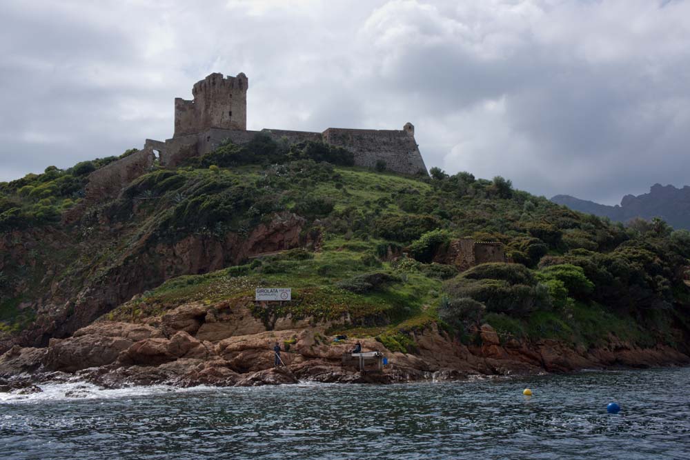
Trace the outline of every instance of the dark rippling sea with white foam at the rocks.
[[[42, 388], [0, 393], [0, 459], [690, 459], [690, 368], [393, 386]], [[612, 401], [618, 414], [607, 413]]]

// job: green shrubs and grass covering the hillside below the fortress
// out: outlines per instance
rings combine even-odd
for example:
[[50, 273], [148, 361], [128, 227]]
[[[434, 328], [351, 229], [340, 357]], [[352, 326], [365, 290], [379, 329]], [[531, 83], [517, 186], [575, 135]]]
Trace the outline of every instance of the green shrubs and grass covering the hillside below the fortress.
[[[414, 350], [413, 336], [431, 323], [464, 341], [486, 322], [502, 340], [583, 346], [611, 335], [640, 346], [672, 344], [678, 328], [690, 326], [690, 232], [663, 221], [625, 228], [515, 190], [502, 177], [440, 168], [406, 177], [384, 164], [364, 170], [347, 150], [266, 134], [245, 146], [225, 143], [175, 170], [154, 166], [117, 199], [83, 203], [88, 174], [116, 159], [0, 183], [4, 247], [23, 248], [1, 256], [3, 333], [34, 317], [19, 310], [18, 292], [23, 302], [54, 295], [66, 304], [137, 264], [147, 266], [149, 290], [110, 312], [112, 319], [144, 321], [190, 301], [242, 300], [259, 286], [290, 286], [293, 301], [253, 314], [267, 326], [288, 316], [333, 321], [330, 332], [377, 337], [397, 351]], [[63, 219], [79, 203], [88, 208]], [[286, 221], [307, 249], [228, 266], [228, 253], [248, 239], [260, 248], [257, 235]], [[515, 263], [465, 272], [439, 263], [450, 263], [440, 256], [459, 238], [500, 241]], [[175, 277], [210, 266], [184, 266], [173, 255], [193, 245], [213, 248], [204, 252], [209, 259], [222, 253], [227, 268]]]

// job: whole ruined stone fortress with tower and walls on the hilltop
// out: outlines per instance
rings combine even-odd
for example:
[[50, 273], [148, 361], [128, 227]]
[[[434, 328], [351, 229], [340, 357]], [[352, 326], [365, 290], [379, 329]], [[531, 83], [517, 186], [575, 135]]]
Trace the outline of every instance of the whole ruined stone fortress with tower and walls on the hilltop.
[[[250, 141], [259, 131], [247, 128], [247, 90], [244, 73], [223, 77], [213, 73], [198, 81], [194, 99], [175, 99], [175, 134], [165, 142], [146, 139], [145, 149], [157, 150], [161, 166], [175, 168], [189, 157], [212, 152], [221, 142], [235, 144]], [[402, 174], [426, 172], [424, 160], [415, 141], [415, 128], [406, 123], [402, 130], [357, 130], [328, 128], [324, 132], [264, 129], [276, 141], [289, 143], [323, 141], [341, 146], [355, 154], [355, 165], [373, 168], [384, 161], [386, 169]]]

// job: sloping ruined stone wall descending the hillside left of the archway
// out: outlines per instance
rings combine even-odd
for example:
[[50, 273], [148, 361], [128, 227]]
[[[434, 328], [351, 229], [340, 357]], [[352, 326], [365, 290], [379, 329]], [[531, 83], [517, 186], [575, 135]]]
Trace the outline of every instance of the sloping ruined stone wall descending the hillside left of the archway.
[[141, 174], [146, 174], [153, 166], [154, 160], [153, 151], [144, 148], [95, 170], [88, 177], [86, 201], [117, 197], [124, 186]]

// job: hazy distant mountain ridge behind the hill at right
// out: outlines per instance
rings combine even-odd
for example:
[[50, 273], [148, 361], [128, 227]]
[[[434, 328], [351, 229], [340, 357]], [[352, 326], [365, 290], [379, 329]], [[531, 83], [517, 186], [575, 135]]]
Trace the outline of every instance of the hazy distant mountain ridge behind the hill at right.
[[635, 217], [651, 219], [661, 217], [673, 228], [690, 230], [690, 187], [676, 188], [655, 183], [649, 193], [625, 195], [620, 206], [607, 206], [594, 201], [586, 201], [570, 195], [556, 195], [551, 201], [569, 208], [609, 217], [613, 221], [627, 222]]

